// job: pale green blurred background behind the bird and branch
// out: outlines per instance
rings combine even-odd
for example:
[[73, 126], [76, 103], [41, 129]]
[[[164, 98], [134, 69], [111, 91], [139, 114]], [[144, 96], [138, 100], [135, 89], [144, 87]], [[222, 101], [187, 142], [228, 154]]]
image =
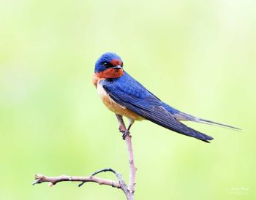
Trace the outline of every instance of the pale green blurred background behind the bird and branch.
[[[116, 117], [91, 82], [107, 51], [160, 99], [243, 128], [187, 123], [200, 142], [135, 123], [136, 199], [256, 199], [256, 3], [37, 1], [0, 3], [0, 199], [125, 199], [74, 182], [32, 186], [34, 174], [129, 175]], [[102, 177], [115, 178], [112, 174]]]

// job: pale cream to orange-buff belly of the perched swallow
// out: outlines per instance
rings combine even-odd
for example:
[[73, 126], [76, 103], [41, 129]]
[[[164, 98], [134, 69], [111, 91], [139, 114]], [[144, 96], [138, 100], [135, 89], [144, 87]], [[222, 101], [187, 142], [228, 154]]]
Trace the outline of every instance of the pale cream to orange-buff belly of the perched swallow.
[[106, 93], [105, 89], [100, 85], [98, 82], [97, 84], [97, 92], [99, 93], [100, 99], [102, 99], [103, 103], [105, 104], [108, 109], [116, 114], [123, 115], [127, 118], [131, 118], [132, 120], [143, 120], [144, 118], [140, 115], [132, 112], [131, 110], [127, 109], [126, 107], [122, 107], [121, 105], [117, 104], [116, 101], [110, 98], [108, 93]]

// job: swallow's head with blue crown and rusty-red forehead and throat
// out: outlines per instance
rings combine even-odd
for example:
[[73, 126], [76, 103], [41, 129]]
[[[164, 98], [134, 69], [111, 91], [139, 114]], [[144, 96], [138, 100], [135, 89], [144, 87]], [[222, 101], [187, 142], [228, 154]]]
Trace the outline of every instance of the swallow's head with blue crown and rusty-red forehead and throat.
[[123, 61], [116, 53], [104, 53], [96, 61], [94, 73], [101, 78], [118, 78], [124, 74]]

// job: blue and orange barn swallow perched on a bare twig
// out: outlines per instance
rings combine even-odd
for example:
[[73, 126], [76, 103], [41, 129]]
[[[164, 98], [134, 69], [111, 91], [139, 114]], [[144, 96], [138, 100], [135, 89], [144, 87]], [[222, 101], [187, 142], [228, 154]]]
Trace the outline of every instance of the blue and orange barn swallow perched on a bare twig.
[[129, 129], [135, 120], [150, 120], [171, 131], [195, 137], [203, 142], [209, 142], [213, 138], [189, 128], [180, 121], [187, 120], [240, 130], [233, 126], [197, 118], [170, 107], [125, 72], [123, 61], [116, 53], [104, 53], [97, 60], [93, 83], [105, 106], [115, 112], [117, 117], [125, 116], [129, 119], [129, 126], [123, 133], [123, 139], [129, 134]]

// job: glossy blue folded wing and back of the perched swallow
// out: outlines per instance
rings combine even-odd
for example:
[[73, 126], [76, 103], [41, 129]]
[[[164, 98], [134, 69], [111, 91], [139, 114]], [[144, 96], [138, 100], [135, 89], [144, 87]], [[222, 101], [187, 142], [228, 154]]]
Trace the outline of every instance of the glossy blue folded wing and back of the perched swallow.
[[[124, 79], [124, 80], [122, 80]], [[128, 82], [127, 82], [128, 81]], [[124, 84], [127, 82], [128, 84]], [[172, 131], [186, 136], [192, 136], [204, 142], [213, 139], [211, 136], [200, 133], [176, 120], [173, 115], [163, 107], [162, 101], [146, 90], [139, 82], [130, 77], [127, 73], [115, 81], [104, 80], [103, 88], [108, 95], [127, 109], [138, 115], [157, 123]]]

